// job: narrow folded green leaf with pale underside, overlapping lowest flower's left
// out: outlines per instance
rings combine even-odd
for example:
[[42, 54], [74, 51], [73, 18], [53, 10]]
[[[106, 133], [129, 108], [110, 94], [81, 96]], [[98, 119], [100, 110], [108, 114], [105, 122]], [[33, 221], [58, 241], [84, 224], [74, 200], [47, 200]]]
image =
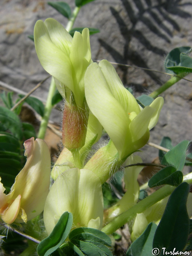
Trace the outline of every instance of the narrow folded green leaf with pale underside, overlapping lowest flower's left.
[[37, 253], [40, 256], [48, 256], [56, 251], [59, 246], [67, 239], [73, 224], [73, 214], [71, 212], [64, 212], [53, 231], [47, 238], [42, 240], [37, 247]]

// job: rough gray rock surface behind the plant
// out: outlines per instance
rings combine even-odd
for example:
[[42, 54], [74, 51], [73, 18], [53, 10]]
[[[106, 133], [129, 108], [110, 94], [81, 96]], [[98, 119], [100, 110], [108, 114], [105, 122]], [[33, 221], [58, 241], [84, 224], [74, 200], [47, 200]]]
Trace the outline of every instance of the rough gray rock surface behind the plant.
[[[46, 0], [1, 1], [0, 9], [0, 81], [29, 92], [47, 76], [41, 67], [33, 34], [36, 20], [53, 17], [64, 26], [67, 19], [47, 4]], [[67, 0], [71, 7], [73, 1]], [[90, 38], [92, 59], [129, 64], [164, 71], [166, 54], [175, 47], [191, 46], [192, 3], [188, 0], [96, 0], [80, 10], [76, 27], [94, 27], [99, 34]], [[116, 65], [125, 86], [135, 95], [149, 94], [166, 80], [168, 75], [144, 71], [135, 67]], [[192, 79], [188, 75], [188, 79]], [[33, 95], [46, 100], [49, 81]], [[173, 144], [191, 140], [191, 82], [181, 80], [166, 93], [158, 125], [151, 131], [150, 141], [159, 144], [163, 136]], [[60, 123], [61, 115], [51, 117]], [[148, 160], [158, 150], [145, 146]]]

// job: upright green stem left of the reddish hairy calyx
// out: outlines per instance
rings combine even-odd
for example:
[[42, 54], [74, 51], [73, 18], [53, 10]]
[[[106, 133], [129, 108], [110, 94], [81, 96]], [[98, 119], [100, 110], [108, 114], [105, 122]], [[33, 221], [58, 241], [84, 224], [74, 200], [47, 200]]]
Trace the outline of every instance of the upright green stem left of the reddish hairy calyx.
[[47, 125], [48, 125], [48, 122], [49, 122], [49, 117], [50, 117], [50, 114], [51, 114], [51, 110], [53, 108], [52, 98], [53, 98], [53, 95], [55, 93], [55, 89], [56, 89], [55, 81], [52, 77], [51, 84], [50, 84], [50, 87], [49, 87], [47, 102], [46, 102], [46, 105], [45, 105], [45, 113], [44, 113], [44, 116], [42, 118], [40, 128], [39, 128], [39, 133], [38, 133], [38, 136], [37, 136], [39, 139], [44, 139], [45, 134], [46, 134], [46, 129], [47, 129]]

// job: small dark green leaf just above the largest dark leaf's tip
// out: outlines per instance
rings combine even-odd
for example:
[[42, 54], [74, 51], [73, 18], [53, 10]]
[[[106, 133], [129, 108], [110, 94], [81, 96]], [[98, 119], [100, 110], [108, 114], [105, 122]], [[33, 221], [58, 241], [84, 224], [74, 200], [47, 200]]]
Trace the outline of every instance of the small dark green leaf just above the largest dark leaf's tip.
[[156, 173], [148, 182], [149, 187], [156, 187], [161, 185], [178, 186], [183, 181], [183, 174], [177, 171], [174, 166], [167, 166]]

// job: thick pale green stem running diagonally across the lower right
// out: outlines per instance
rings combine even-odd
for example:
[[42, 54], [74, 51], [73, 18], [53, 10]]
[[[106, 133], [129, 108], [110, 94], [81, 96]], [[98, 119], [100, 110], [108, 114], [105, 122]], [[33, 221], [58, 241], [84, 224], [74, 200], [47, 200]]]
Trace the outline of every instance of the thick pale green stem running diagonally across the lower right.
[[[192, 173], [187, 174], [183, 177], [183, 181], [191, 184], [192, 183]], [[164, 199], [168, 195], [170, 195], [176, 187], [165, 185], [164, 187], [158, 189], [148, 197], [141, 200], [139, 203], [131, 207], [129, 210], [123, 212], [119, 216], [117, 216], [112, 222], [107, 224], [101, 231], [105, 232], [107, 235], [112, 234], [118, 228], [122, 227], [128, 221], [133, 220], [137, 213], [141, 213], [150, 206], [154, 205], [158, 201]]]

